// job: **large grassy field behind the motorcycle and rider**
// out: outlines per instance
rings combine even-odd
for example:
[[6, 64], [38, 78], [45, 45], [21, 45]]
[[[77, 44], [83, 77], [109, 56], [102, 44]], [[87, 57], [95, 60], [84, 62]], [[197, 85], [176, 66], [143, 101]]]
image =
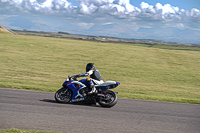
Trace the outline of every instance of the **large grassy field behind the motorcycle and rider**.
[[121, 98], [200, 104], [200, 52], [145, 46], [0, 33], [0, 86], [55, 92], [92, 62]]

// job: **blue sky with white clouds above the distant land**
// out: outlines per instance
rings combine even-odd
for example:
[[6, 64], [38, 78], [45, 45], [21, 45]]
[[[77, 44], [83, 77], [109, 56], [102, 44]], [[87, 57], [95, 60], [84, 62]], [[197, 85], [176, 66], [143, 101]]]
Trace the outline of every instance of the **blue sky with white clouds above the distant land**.
[[200, 43], [200, 0], [0, 0], [0, 25]]

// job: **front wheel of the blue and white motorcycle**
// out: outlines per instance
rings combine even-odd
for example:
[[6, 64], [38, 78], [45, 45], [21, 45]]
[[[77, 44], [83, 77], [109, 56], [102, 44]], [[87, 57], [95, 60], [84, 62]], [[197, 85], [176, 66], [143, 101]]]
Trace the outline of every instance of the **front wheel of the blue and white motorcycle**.
[[61, 88], [55, 93], [55, 100], [58, 103], [69, 103], [71, 98], [72, 91], [67, 88]]

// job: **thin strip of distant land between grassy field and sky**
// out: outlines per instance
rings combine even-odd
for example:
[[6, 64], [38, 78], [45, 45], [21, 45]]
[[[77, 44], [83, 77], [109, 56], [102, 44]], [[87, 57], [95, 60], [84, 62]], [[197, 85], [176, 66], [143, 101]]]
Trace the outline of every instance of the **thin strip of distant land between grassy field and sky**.
[[[94, 28], [94, 27], [93, 27]], [[98, 27], [100, 28], [100, 27]], [[98, 29], [96, 27], [96, 29]], [[190, 47], [200, 47], [200, 44], [189, 44], [189, 43], [178, 43], [178, 42], [165, 42], [153, 39], [125, 39], [116, 38], [109, 36], [86, 36], [86, 35], [75, 35], [67, 32], [43, 32], [43, 31], [27, 31], [27, 30], [14, 30], [16, 33], [21, 35], [34, 35], [34, 36], [45, 36], [45, 37], [56, 37], [56, 38], [71, 38], [77, 40], [88, 40], [88, 41], [100, 41], [100, 42], [114, 42], [114, 43], [129, 43], [129, 44], [147, 44], [149, 46], [153, 45], [172, 45], [172, 46], [190, 46]]]

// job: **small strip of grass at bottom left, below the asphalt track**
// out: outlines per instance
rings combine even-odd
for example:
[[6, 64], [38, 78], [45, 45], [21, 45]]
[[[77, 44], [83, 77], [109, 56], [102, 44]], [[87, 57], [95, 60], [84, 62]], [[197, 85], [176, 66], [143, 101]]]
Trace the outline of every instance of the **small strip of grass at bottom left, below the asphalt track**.
[[58, 132], [48, 132], [48, 131], [36, 131], [36, 130], [20, 130], [20, 129], [2, 129], [0, 133], [58, 133]]

